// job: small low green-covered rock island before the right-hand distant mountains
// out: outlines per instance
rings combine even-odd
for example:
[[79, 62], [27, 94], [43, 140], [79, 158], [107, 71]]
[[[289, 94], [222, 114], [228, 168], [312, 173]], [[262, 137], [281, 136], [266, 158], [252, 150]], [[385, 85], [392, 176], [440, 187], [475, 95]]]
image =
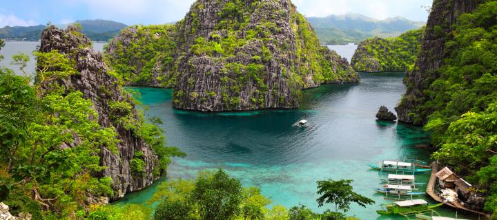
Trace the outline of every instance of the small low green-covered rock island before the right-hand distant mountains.
[[359, 44], [351, 65], [357, 72], [405, 72], [416, 63], [425, 28], [398, 37], [375, 37]]

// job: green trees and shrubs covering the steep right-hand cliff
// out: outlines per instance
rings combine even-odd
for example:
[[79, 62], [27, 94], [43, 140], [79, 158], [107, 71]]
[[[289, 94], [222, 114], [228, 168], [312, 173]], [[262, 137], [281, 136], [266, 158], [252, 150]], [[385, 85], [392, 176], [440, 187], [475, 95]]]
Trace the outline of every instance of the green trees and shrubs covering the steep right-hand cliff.
[[477, 184], [488, 195], [485, 210], [497, 212], [497, 1], [463, 14], [451, 40], [440, 78], [429, 87], [433, 109], [425, 126], [440, 150], [436, 159]]

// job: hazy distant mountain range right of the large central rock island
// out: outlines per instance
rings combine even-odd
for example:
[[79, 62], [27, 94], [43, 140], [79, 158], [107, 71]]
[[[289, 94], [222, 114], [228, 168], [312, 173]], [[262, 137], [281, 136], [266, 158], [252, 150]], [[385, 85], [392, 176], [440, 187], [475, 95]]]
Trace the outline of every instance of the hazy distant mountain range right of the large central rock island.
[[399, 36], [418, 29], [424, 22], [403, 17], [377, 20], [362, 14], [349, 13], [328, 17], [308, 17], [323, 44], [359, 43], [373, 36]]

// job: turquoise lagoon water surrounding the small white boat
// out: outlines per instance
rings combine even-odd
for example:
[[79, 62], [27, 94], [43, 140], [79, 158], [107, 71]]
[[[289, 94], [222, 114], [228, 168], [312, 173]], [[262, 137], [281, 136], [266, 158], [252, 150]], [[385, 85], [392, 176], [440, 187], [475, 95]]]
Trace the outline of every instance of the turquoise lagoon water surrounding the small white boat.
[[[380, 217], [384, 200], [373, 188], [381, 186], [369, 163], [382, 159], [429, 159], [429, 152], [414, 148], [429, 141], [422, 129], [407, 124], [378, 122], [380, 105], [393, 110], [405, 92], [404, 74], [362, 74], [356, 85], [324, 85], [304, 91], [294, 110], [199, 113], [172, 107], [170, 89], [133, 88], [140, 91], [148, 116], [164, 121], [168, 144], [188, 153], [174, 159], [167, 179], [193, 178], [204, 169], [223, 168], [244, 186], [257, 186], [273, 203], [287, 208], [302, 203], [316, 211], [316, 181], [353, 179], [354, 189], [376, 201], [368, 208], [353, 206], [349, 215]], [[309, 126], [292, 126], [301, 119]], [[418, 175], [427, 181], [429, 173]], [[166, 178], [161, 179], [166, 181]], [[117, 203], [145, 203], [156, 186], [130, 193]], [[441, 210], [453, 216], [451, 210]]]

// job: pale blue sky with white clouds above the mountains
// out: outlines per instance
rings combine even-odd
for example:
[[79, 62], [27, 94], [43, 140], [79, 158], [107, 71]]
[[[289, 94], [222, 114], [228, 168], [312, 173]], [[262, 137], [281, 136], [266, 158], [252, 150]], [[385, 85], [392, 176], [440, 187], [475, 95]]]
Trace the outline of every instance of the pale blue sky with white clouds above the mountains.
[[[178, 21], [194, 0], [5, 0], [0, 5], [0, 27], [70, 23], [80, 19], [108, 19], [132, 24]], [[293, 0], [306, 16], [324, 17], [349, 12], [375, 19], [402, 16], [426, 21], [422, 5], [432, 0]]]

